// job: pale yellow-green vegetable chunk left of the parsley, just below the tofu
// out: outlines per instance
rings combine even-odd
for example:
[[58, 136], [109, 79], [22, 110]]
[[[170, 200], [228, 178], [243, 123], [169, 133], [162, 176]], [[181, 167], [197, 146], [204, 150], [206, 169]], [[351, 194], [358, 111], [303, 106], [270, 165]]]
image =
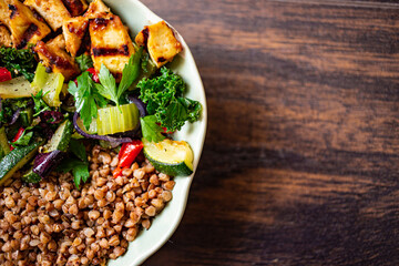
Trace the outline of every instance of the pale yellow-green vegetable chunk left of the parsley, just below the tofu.
[[45, 68], [39, 63], [32, 81], [34, 94], [43, 90], [43, 100], [49, 106], [61, 105], [60, 93], [63, 88], [64, 76], [61, 73], [48, 73]]

